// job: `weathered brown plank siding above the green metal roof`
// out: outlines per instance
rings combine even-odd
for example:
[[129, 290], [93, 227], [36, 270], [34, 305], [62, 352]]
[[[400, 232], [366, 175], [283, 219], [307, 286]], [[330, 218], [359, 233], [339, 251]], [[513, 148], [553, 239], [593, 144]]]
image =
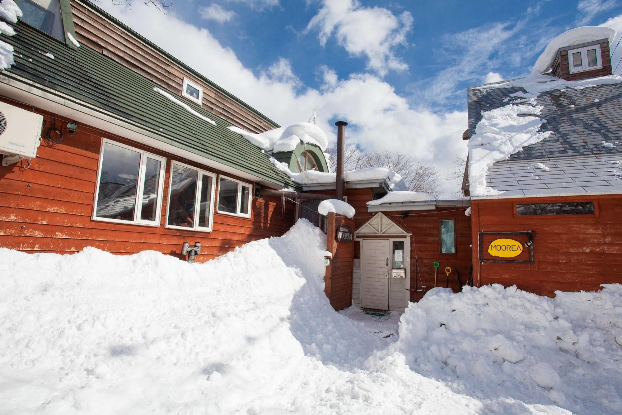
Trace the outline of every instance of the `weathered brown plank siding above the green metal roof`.
[[[261, 116], [244, 108], [207, 82], [197, 79], [188, 70], [131, 36], [121, 27], [103, 19], [85, 4], [72, 1], [71, 5], [76, 38], [80, 44], [129, 67], [167, 88], [174, 95], [181, 95], [183, 77], [192, 80], [203, 88], [203, 108], [244, 130], [260, 133], [275, 128]], [[193, 105], [190, 100], [188, 103]]]

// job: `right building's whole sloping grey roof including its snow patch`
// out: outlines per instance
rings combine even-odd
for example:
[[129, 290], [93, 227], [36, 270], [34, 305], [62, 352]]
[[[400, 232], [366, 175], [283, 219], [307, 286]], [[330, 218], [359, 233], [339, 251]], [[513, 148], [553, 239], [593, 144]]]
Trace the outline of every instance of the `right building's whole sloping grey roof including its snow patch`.
[[[576, 169], [557, 171], [547, 183], [533, 181], [532, 173], [539, 178], [545, 174], [536, 169], [526, 179], [521, 176], [522, 168], [512, 163], [541, 162], [549, 166], [551, 161], [562, 163], [560, 158], [622, 151], [622, 145], [616, 144], [622, 141], [618, 126], [622, 118], [621, 86], [622, 78], [615, 75], [566, 81], [531, 74], [523, 79], [469, 88], [470, 195], [605, 191], [601, 186], [619, 191], [620, 181], [605, 181], [596, 186], [573, 184], [572, 172]], [[603, 141], [610, 145], [603, 145]], [[603, 171], [593, 173], [588, 176], [598, 176]]]

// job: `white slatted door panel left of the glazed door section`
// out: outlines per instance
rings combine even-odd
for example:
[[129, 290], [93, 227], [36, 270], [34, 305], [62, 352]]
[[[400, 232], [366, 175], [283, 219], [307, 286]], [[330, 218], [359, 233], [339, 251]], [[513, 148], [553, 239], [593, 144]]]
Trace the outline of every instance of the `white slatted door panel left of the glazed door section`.
[[361, 307], [389, 309], [389, 240], [361, 241]]

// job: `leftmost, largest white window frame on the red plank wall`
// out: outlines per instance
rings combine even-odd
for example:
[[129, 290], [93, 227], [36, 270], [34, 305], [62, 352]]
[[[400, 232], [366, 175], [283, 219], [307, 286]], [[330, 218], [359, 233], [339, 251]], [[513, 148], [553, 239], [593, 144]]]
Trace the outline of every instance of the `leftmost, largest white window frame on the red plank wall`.
[[[111, 145], [119, 146], [121, 148], [125, 148], [127, 150], [136, 151], [136, 153], [141, 154], [141, 161], [138, 168], [138, 181], [136, 183], [136, 205], [134, 207], [134, 219], [131, 221], [126, 221], [124, 219], [111, 219], [109, 217], [98, 217], [97, 216], [97, 201], [100, 196], [100, 180], [101, 180], [101, 165], [104, 161], [104, 148], [106, 144], [109, 143]], [[142, 192], [144, 191], [145, 186], [145, 171], [147, 165], [147, 157], [152, 158], [154, 160], [160, 161], [160, 177], [158, 181], [157, 187], [157, 201], [156, 201], [156, 220], [155, 221], [146, 221], [141, 219], [142, 212]], [[123, 223], [123, 224], [132, 224], [132, 225], [146, 225], [146, 226], [160, 226], [160, 217], [162, 216], [162, 193], [164, 192], [164, 174], [166, 171], [166, 158], [156, 156], [147, 151], [139, 150], [138, 148], [128, 146], [123, 143], [119, 143], [118, 141], [109, 140], [108, 138], [101, 138], [101, 148], [100, 148], [100, 160], [98, 161], [97, 166], [97, 183], [95, 184], [95, 200], [93, 201], [93, 216], [91, 219], [93, 221], [101, 221], [101, 222], [111, 222], [111, 223]]]

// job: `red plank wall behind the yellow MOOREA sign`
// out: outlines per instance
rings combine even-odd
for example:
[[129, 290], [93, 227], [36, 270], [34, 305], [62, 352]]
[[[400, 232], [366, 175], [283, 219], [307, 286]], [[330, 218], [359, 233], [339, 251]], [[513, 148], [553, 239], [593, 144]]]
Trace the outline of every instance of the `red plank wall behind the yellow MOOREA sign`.
[[[517, 217], [516, 203], [595, 201], [595, 216]], [[473, 200], [473, 279], [539, 295], [622, 283], [622, 195]], [[478, 232], [534, 231], [534, 264], [478, 263]], [[485, 246], [485, 248], [487, 248]], [[485, 249], [486, 250], [486, 249]], [[478, 275], [479, 272], [479, 275]]]

